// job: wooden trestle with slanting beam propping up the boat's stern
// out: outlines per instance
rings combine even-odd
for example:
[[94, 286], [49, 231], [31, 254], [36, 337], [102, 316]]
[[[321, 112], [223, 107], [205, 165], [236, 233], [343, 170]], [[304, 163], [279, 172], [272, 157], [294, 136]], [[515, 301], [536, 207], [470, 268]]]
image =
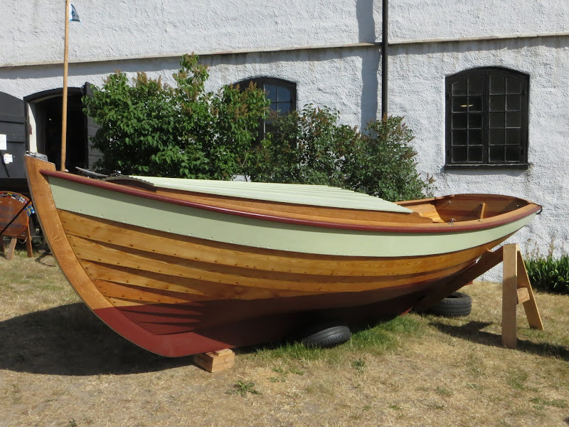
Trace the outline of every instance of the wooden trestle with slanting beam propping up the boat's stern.
[[543, 322], [539, 315], [538, 306], [533, 296], [533, 289], [528, 278], [526, 265], [517, 243], [501, 246], [496, 251], [488, 251], [479, 258], [478, 262], [464, 272], [443, 283], [436, 292], [425, 296], [415, 310], [424, 311], [440, 300], [462, 288], [467, 283], [482, 275], [495, 265], [502, 263], [504, 282], [502, 287], [502, 344], [511, 349], [516, 348], [516, 309], [523, 304], [526, 317], [531, 328], [543, 330]]

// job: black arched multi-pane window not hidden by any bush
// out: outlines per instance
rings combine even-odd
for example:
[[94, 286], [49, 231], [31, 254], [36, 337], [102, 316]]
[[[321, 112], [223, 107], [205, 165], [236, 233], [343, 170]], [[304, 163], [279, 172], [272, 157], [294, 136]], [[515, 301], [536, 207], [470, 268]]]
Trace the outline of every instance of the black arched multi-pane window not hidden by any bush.
[[473, 68], [445, 83], [445, 164], [526, 167], [529, 75]]

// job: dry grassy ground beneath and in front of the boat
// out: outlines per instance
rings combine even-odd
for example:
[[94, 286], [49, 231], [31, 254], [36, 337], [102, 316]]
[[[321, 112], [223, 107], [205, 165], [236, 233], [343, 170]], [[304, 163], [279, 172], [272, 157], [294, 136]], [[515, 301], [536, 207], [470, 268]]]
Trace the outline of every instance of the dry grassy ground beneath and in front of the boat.
[[569, 297], [538, 294], [501, 347], [501, 287], [474, 283], [467, 318], [408, 315], [383, 352], [238, 351], [209, 374], [119, 337], [49, 255], [0, 255], [0, 426], [568, 426]]

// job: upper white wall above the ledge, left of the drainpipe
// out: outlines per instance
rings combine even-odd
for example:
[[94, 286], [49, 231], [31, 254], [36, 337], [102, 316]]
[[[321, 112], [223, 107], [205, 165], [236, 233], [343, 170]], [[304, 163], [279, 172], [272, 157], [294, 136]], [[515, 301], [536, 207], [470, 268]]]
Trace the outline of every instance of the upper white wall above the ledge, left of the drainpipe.
[[[74, 0], [70, 60], [373, 41], [372, 0]], [[63, 58], [65, 7], [0, 0], [0, 65]], [[363, 28], [365, 26], [365, 28]], [[365, 38], [366, 40], [362, 40]]]

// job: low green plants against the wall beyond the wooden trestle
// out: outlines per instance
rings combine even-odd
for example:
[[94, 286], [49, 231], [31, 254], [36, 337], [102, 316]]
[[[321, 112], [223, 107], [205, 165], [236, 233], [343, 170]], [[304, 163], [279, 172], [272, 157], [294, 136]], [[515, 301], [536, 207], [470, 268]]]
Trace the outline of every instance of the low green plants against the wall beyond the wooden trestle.
[[525, 264], [533, 288], [569, 294], [569, 255], [530, 258], [525, 260]]

